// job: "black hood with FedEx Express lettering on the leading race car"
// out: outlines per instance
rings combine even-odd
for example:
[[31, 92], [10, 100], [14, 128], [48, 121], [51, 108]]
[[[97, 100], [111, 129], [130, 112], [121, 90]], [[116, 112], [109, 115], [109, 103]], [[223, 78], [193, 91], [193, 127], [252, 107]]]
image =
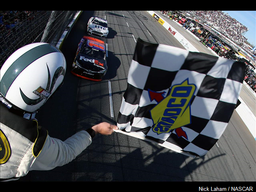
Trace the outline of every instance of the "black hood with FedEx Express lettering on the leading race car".
[[99, 72], [107, 69], [107, 64], [105, 60], [93, 58], [86, 54], [78, 54], [78, 56], [76, 56], [76, 61], [80, 64], [82, 68], [86, 70]]

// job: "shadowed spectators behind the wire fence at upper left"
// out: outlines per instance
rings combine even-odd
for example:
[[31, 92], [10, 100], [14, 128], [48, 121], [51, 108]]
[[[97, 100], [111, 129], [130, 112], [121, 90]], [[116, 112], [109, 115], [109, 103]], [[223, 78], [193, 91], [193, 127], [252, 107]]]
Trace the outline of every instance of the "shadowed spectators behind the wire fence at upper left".
[[49, 15], [48, 11], [0, 11], [0, 67], [12, 52], [39, 41]]

